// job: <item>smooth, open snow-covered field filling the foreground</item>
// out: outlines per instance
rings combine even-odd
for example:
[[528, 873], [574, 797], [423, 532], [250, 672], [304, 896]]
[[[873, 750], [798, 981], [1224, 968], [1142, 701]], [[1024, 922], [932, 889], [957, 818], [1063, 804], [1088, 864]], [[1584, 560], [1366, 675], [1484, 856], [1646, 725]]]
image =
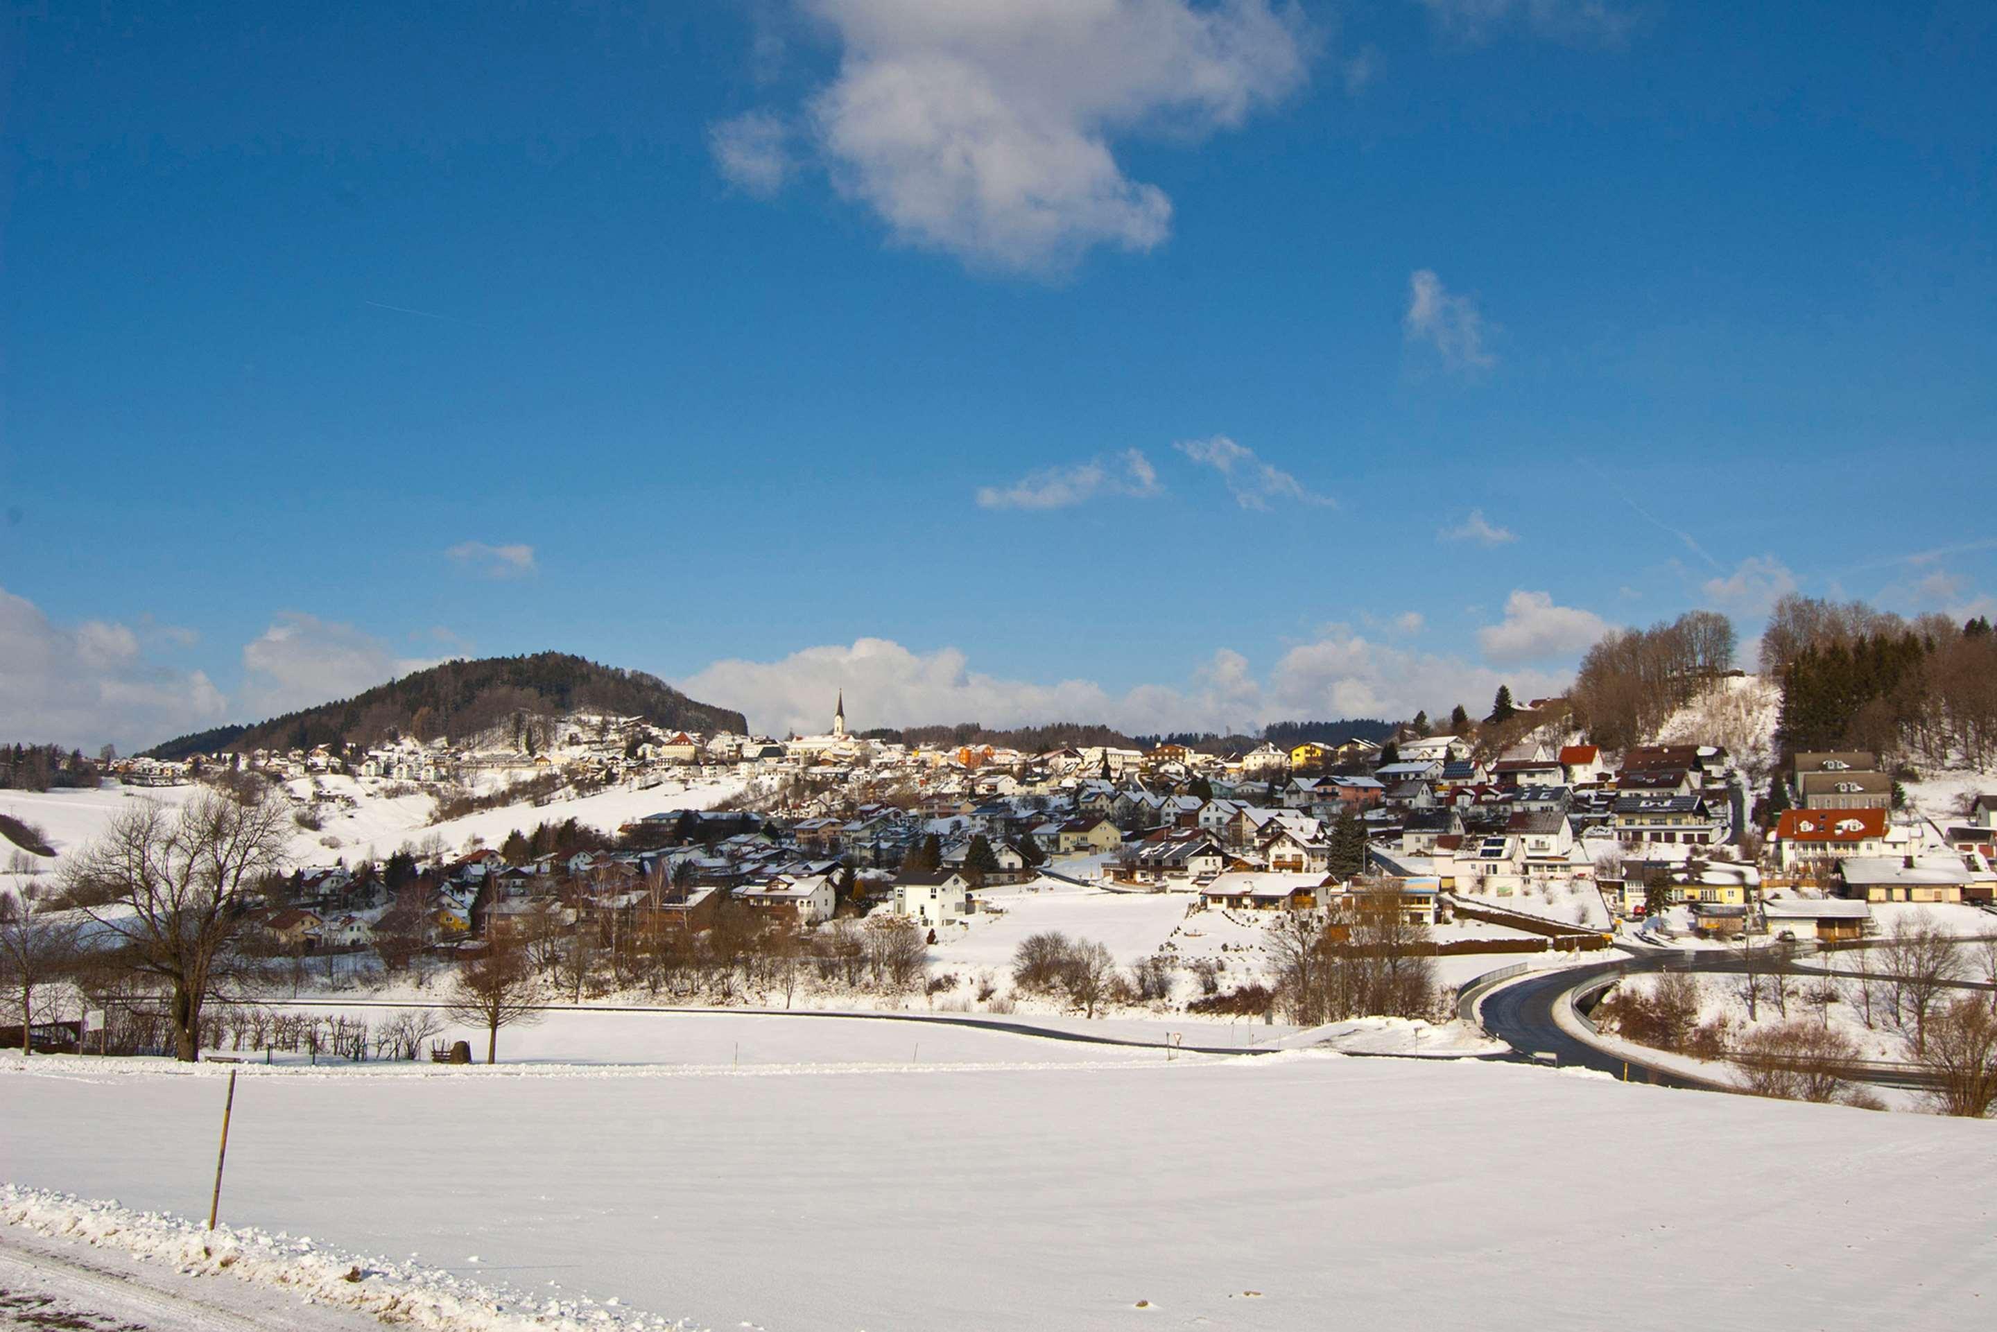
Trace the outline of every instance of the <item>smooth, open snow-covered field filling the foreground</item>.
[[[224, 1070], [114, 1064], [0, 1062], [0, 1176], [200, 1214]], [[773, 1332], [1945, 1328], [1997, 1300], [1981, 1122], [1322, 1052], [499, 1072], [246, 1070], [224, 1220]]]

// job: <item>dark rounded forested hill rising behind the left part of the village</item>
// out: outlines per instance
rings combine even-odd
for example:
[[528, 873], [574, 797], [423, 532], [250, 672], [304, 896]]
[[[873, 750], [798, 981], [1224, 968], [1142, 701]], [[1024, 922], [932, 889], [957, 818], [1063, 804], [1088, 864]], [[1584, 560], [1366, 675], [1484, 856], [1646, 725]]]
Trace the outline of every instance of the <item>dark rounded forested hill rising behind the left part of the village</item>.
[[371, 745], [391, 735], [459, 741], [503, 725], [515, 713], [555, 715], [603, 709], [645, 717], [675, 731], [749, 729], [747, 719], [725, 707], [695, 703], [657, 675], [619, 671], [569, 653], [485, 657], [391, 679], [337, 703], [322, 703], [252, 727], [218, 727], [166, 741], [148, 751], [156, 759], [184, 759], [218, 749], [310, 749], [351, 741]]

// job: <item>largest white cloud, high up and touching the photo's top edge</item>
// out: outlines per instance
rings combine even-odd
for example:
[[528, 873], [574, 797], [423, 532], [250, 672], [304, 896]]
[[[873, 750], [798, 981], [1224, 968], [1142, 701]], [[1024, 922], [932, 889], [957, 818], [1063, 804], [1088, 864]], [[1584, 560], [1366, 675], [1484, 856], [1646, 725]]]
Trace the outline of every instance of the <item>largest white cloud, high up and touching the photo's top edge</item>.
[[841, 42], [807, 106], [835, 186], [903, 244], [1026, 274], [1164, 242], [1172, 204], [1124, 176], [1114, 140], [1240, 126], [1312, 56], [1272, 0], [799, 4]]

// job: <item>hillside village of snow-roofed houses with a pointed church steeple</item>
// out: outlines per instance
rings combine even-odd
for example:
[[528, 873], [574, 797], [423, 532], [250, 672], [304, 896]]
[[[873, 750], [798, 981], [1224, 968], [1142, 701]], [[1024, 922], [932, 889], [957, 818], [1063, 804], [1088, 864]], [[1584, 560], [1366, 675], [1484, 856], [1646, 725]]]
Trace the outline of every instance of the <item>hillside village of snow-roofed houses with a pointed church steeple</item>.
[[[1536, 707], [1554, 715], [1554, 703]], [[1080, 887], [1222, 913], [1312, 911], [1390, 889], [1410, 921], [1442, 931], [1444, 951], [1494, 953], [1618, 937], [1849, 941], [1879, 933], [1875, 903], [1987, 905], [1997, 891], [1997, 797], [1957, 817], [1897, 807], [1869, 753], [1801, 753], [1757, 783], [1717, 745], [1608, 755], [1526, 729], [1488, 751], [1476, 735], [1426, 729], [1234, 753], [943, 749], [851, 735], [841, 697], [827, 733], [781, 741], [573, 717], [539, 755], [405, 741], [114, 767], [136, 785], [266, 775], [298, 801], [300, 827], [355, 803], [341, 783], [443, 793], [477, 781], [489, 801], [531, 791], [509, 809], [523, 827], [505, 837], [447, 847], [431, 835], [379, 859], [300, 865], [274, 885], [260, 915], [270, 951], [343, 955], [361, 973], [523, 935], [543, 949], [587, 939], [621, 973], [619, 941], [701, 935], [723, 907], [799, 937], [893, 917], [949, 945], [1022, 893]], [[603, 787], [657, 791], [659, 809], [617, 827], [559, 819], [563, 797]], [[685, 789], [733, 799], [675, 807]], [[527, 827], [543, 803], [551, 817]], [[1472, 919], [1494, 929], [1452, 941], [1448, 927]], [[337, 975], [330, 961], [326, 975]]]

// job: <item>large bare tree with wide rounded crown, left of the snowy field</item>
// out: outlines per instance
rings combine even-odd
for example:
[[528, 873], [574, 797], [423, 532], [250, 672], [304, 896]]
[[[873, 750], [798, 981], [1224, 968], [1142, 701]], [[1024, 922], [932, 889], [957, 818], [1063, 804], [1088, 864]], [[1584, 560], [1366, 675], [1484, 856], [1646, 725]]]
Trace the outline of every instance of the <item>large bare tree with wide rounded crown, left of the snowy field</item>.
[[286, 803], [264, 789], [204, 791], [180, 809], [136, 801], [64, 875], [70, 901], [166, 987], [180, 1060], [200, 1058], [202, 1004], [246, 971], [236, 943], [290, 831]]

